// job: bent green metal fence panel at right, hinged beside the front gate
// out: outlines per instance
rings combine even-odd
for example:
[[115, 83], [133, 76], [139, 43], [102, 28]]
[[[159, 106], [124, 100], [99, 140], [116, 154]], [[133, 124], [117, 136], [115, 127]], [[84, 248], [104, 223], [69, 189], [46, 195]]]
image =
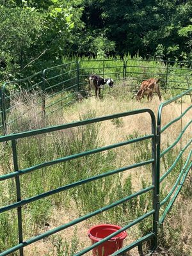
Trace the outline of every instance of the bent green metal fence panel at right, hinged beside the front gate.
[[[161, 103], [161, 105], [159, 106], [159, 110], [158, 110], [158, 116], [157, 116], [157, 175], [160, 177], [160, 172], [161, 172], [161, 159], [162, 157], [166, 157], [166, 154], [173, 148], [175, 147], [175, 145], [177, 145], [177, 143], [179, 143], [180, 141], [180, 152], [179, 155], [176, 157], [175, 161], [173, 161], [172, 166], [170, 166], [170, 168], [168, 170], [166, 170], [166, 172], [163, 173], [163, 175], [161, 175], [159, 182], [163, 182], [163, 180], [168, 177], [168, 175], [170, 175], [170, 173], [172, 173], [172, 171], [174, 170], [175, 166], [179, 163], [180, 160], [182, 160], [182, 164], [184, 164], [182, 166], [182, 168], [180, 168], [180, 173], [177, 177], [177, 180], [175, 181], [175, 184], [173, 184], [172, 189], [170, 190], [170, 192], [168, 193], [168, 195], [166, 195], [165, 198], [163, 198], [163, 200], [160, 202], [160, 207], [163, 208], [163, 205], [167, 204], [162, 210], [163, 210], [163, 214], [160, 217], [159, 220], [159, 224], [163, 224], [164, 218], [166, 217], [166, 214], [170, 211], [173, 202], [175, 202], [175, 199], [177, 198], [177, 196], [179, 195], [180, 189], [182, 188], [182, 185], [184, 184], [184, 180], [186, 179], [189, 170], [191, 170], [192, 168], [192, 160], [191, 160], [191, 154], [192, 154], [192, 150], [189, 151], [188, 153], [188, 157], [186, 159], [186, 161], [183, 163], [184, 159], [182, 157], [182, 155], [186, 152], [186, 150], [188, 148], [191, 147], [192, 145], [192, 138], [188, 140], [188, 142], [186, 143], [186, 145], [183, 147], [182, 146], [182, 138], [184, 136], [184, 132], [186, 132], [186, 130], [188, 129], [188, 127], [191, 127], [191, 123], [192, 123], [192, 119], [188, 122], [188, 124], [186, 124], [184, 127], [181, 127], [181, 131], [179, 136], [175, 139], [175, 141], [172, 143], [172, 145], [168, 146], [167, 148], [165, 148], [162, 152], [161, 152], [161, 136], [162, 134], [164, 134], [164, 132], [171, 127], [173, 124], [175, 124], [175, 122], [178, 122], [179, 120], [182, 120], [182, 117], [187, 115], [189, 113], [189, 110], [191, 110], [192, 105], [189, 106], [185, 111], [181, 111], [182, 113], [175, 119], [173, 119], [172, 121], [168, 122], [168, 124], [164, 125], [164, 127], [161, 127], [161, 122], [162, 122], [162, 112], [163, 112], [163, 108], [165, 106], [168, 106], [170, 104], [172, 104], [173, 102], [175, 102], [175, 100], [182, 100], [182, 97], [186, 96], [186, 95], [190, 95], [190, 93], [192, 92], [192, 88], [189, 90], [186, 90], [186, 92], [181, 93], [180, 95], [177, 95], [176, 97], [174, 97], [173, 99], [167, 100], [166, 102]], [[182, 108], [182, 101], [181, 101], [181, 108]], [[182, 126], [182, 123], [181, 123]], [[172, 197], [171, 197], [172, 196]], [[169, 201], [170, 200], [170, 201]]]

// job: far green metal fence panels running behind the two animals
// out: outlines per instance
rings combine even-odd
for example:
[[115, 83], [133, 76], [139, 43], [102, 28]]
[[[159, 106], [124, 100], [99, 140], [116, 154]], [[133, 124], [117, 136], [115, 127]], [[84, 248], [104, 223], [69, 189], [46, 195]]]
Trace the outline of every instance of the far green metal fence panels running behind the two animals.
[[[76, 101], [76, 93], [87, 97], [88, 76], [97, 74], [124, 81], [124, 86], [138, 88], [149, 77], [160, 79], [163, 90], [187, 90], [192, 83], [191, 62], [163, 60], [80, 60], [46, 68], [24, 79], [9, 81], [1, 88], [1, 124], [4, 134], [7, 125], [22, 118], [17, 113], [18, 100], [25, 101], [26, 93], [34, 97], [36, 109], [42, 116], [49, 115]], [[28, 111], [28, 109], [26, 109]]]

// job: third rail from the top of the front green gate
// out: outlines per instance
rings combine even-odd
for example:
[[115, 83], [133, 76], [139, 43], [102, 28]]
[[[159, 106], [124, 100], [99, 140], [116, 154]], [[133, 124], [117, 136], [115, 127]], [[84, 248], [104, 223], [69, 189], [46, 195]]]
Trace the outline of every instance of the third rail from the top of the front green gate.
[[[6, 212], [6, 211], [9, 211], [11, 209], [15, 209], [17, 207], [21, 207], [21, 206], [29, 204], [31, 202], [35, 202], [36, 200], [40, 200], [40, 199], [45, 198], [47, 196], [55, 195], [56, 193], [66, 191], [67, 189], [75, 188], [76, 186], [80, 186], [82, 184], [86, 184], [86, 183], [92, 182], [94, 180], [102, 179], [102, 178], [108, 177], [110, 175], [114, 175], [116, 173], [122, 173], [122, 172], [125, 172], [127, 170], [131, 170], [131, 169], [138, 168], [140, 166], [145, 166], [147, 164], [152, 164], [152, 163], [154, 163], [154, 159], [150, 159], [150, 160], [145, 161], [145, 162], [125, 166], [125, 167], [122, 167], [122, 168], [119, 168], [119, 169], [116, 169], [116, 170], [113, 170], [113, 171], [109, 171], [109, 172], [106, 172], [106, 173], [101, 173], [99, 175], [96, 175], [96, 176], [93, 176], [93, 177], [90, 177], [90, 178], [87, 178], [87, 179], [84, 179], [84, 180], [79, 180], [77, 182], [73, 182], [71, 184], [62, 186], [62, 187], [57, 188], [57, 189], [52, 189], [51, 191], [42, 193], [40, 195], [32, 196], [31, 198], [26, 198], [24, 200], [21, 200], [20, 202], [16, 202], [16, 203], [1, 207], [0, 208], [0, 214], [2, 212]], [[152, 189], [152, 188], [154, 188], [154, 186], [152, 186], [150, 188]]]

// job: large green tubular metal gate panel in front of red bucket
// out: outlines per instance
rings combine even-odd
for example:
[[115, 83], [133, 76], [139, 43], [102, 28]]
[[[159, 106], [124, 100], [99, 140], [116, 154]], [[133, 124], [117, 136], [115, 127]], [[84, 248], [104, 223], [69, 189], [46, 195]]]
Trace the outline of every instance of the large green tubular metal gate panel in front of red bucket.
[[[131, 140], [123, 141], [120, 143], [115, 143], [112, 145], [108, 145], [105, 147], [100, 147], [100, 148], [95, 148], [93, 150], [88, 150], [86, 152], [81, 152], [78, 154], [74, 154], [71, 156], [65, 156], [61, 157], [60, 159], [54, 159], [52, 161], [47, 161], [44, 163], [36, 164], [35, 166], [30, 166], [29, 168], [25, 168], [20, 170], [19, 169], [19, 159], [17, 156], [17, 140], [21, 138], [28, 138], [30, 136], [38, 136], [40, 134], [46, 134], [48, 132], [54, 132], [54, 131], [61, 131], [65, 130], [68, 128], [72, 127], [78, 127], [81, 125], [88, 125], [88, 124], [94, 124], [98, 122], [104, 122], [106, 120], [113, 120], [114, 118], [123, 118], [125, 116], [132, 116], [132, 115], [140, 115], [141, 113], [146, 113], [149, 114], [151, 117], [151, 127], [152, 127], [152, 133], [142, 136], [140, 138], [134, 138]], [[53, 164], [58, 164], [58, 163], [63, 163], [66, 161], [71, 161], [72, 159], [76, 159], [79, 157], [83, 156], [90, 156], [92, 154], [97, 154], [99, 152], [104, 152], [106, 150], [111, 150], [113, 148], [118, 148], [122, 147], [124, 145], [129, 145], [133, 144], [136, 142], [144, 141], [144, 140], [151, 140], [152, 141], [152, 156], [151, 159], [148, 159], [147, 161], [143, 161], [141, 163], [135, 163], [129, 166], [124, 166], [123, 168], [118, 168], [116, 170], [108, 170], [107, 172], [100, 173], [99, 175], [94, 175], [92, 177], [89, 177], [87, 179], [83, 180], [77, 180], [76, 182], [73, 182], [71, 184], [67, 184], [65, 186], [61, 186], [60, 188], [52, 189], [51, 191], [47, 191], [45, 193], [42, 193], [40, 195], [32, 196], [31, 198], [21, 198], [22, 195], [22, 186], [20, 184], [20, 175], [25, 175], [26, 173], [29, 172], [35, 172], [36, 170], [40, 168], [44, 168], [45, 166], [51, 166]], [[140, 223], [140, 221], [145, 220], [149, 216], [153, 216], [153, 221], [151, 225], [151, 233], [148, 234], [148, 236], [141, 238], [140, 241], [136, 241], [132, 243], [129, 247], [131, 250], [132, 247], [134, 246], [139, 246], [143, 241], [146, 241], [147, 239], [152, 239], [152, 248], [151, 250], [154, 250], [154, 248], [157, 247], [157, 223], [158, 223], [158, 208], [157, 208], [157, 191], [158, 191], [158, 180], [156, 180], [156, 119], [154, 116], [154, 113], [150, 109], [139, 109], [136, 111], [129, 111], [129, 112], [124, 112], [124, 113], [118, 113], [115, 115], [109, 115], [109, 116], [102, 116], [98, 118], [92, 118], [88, 120], [83, 120], [79, 122], [74, 122], [70, 124], [64, 124], [64, 125], [58, 125], [54, 127], [46, 127], [44, 129], [38, 129], [34, 131], [28, 131], [28, 132], [21, 132], [19, 134], [10, 134], [6, 136], [1, 136], [0, 137], [0, 143], [4, 143], [6, 141], [11, 141], [12, 142], [12, 154], [13, 154], [13, 166], [14, 166], [14, 171], [12, 173], [8, 173], [6, 175], [1, 175], [0, 176], [0, 181], [3, 182], [3, 180], [8, 180], [8, 179], [15, 179], [15, 186], [17, 189], [17, 202], [6, 205], [0, 208], [0, 214], [6, 211], [10, 211], [12, 209], [17, 209], [17, 219], [18, 219], [18, 244], [13, 246], [12, 248], [8, 248], [4, 252], [1, 252], [1, 256], [9, 255], [10, 253], [16, 252], [19, 250], [20, 255], [24, 255], [24, 250], [23, 248], [25, 246], [28, 246], [29, 244], [35, 243], [36, 241], [39, 241], [40, 239], [43, 239], [45, 237], [51, 236], [52, 234], [55, 234], [56, 232], [59, 232], [61, 230], [64, 230], [68, 227], [72, 227], [73, 225], [76, 225], [77, 223], [80, 223], [81, 221], [88, 220], [89, 218], [96, 216], [97, 214], [101, 214], [104, 211], [108, 211], [109, 209], [112, 209], [113, 207], [123, 204], [124, 202], [127, 202], [129, 200], [132, 200], [132, 198], [136, 198], [137, 196], [140, 196], [144, 193], [147, 193], [148, 191], [153, 191], [153, 196], [151, 198], [153, 202], [152, 210], [146, 212], [145, 214], [141, 215], [138, 219], [131, 221], [131, 223], [125, 225], [121, 230], [118, 230], [115, 232], [115, 234], [120, 233], [122, 230], [127, 230], [127, 228], [130, 228], [137, 223]], [[66, 191], [67, 189], [71, 188], [76, 188], [77, 186], [80, 186], [81, 184], [86, 184], [88, 182], [94, 182], [94, 180], [102, 179], [104, 177], [109, 177], [110, 175], [115, 175], [116, 173], [122, 173], [125, 172], [126, 170], [131, 170], [134, 168], [137, 168], [139, 166], [145, 166], [145, 165], [150, 165], [152, 166], [152, 185], [141, 189], [140, 191], [132, 194], [132, 195], [127, 195], [124, 198], [113, 202], [113, 204], [106, 205], [100, 209], [97, 209], [96, 211], [90, 212], [89, 214], [86, 214], [84, 216], [81, 216], [80, 218], [77, 218], [75, 220], [72, 220], [64, 225], [61, 225], [60, 227], [53, 228], [52, 230], [49, 230], [47, 232], [44, 232], [43, 234], [40, 234], [35, 237], [31, 237], [30, 239], [24, 241], [23, 240], [23, 223], [22, 223], [22, 207], [24, 205], [30, 204], [31, 202], [35, 202], [36, 200], [40, 200], [42, 198], [47, 198], [47, 196], [54, 195], [56, 193], [60, 193], [61, 191]], [[110, 237], [113, 237], [114, 234], [105, 237], [98, 243], [93, 244], [92, 246], [89, 246], [88, 248], [82, 250], [81, 252], [77, 253], [77, 255], [84, 255], [85, 253], [89, 252], [93, 248], [95, 248], [97, 245], [104, 243], [104, 241], [108, 240]], [[126, 250], [128, 250], [126, 248]]]

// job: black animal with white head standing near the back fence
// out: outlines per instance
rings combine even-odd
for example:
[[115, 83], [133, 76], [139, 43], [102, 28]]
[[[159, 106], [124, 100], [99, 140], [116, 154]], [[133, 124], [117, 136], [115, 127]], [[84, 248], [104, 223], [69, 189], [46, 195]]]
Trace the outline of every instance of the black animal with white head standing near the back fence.
[[104, 84], [108, 84], [109, 87], [113, 87], [114, 84], [114, 81], [111, 78], [104, 79], [95, 75], [90, 76], [88, 81], [88, 95], [90, 95], [92, 89], [95, 89], [95, 98], [97, 98], [97, 96], [100, 97], [100, 88], [103, 88]]

